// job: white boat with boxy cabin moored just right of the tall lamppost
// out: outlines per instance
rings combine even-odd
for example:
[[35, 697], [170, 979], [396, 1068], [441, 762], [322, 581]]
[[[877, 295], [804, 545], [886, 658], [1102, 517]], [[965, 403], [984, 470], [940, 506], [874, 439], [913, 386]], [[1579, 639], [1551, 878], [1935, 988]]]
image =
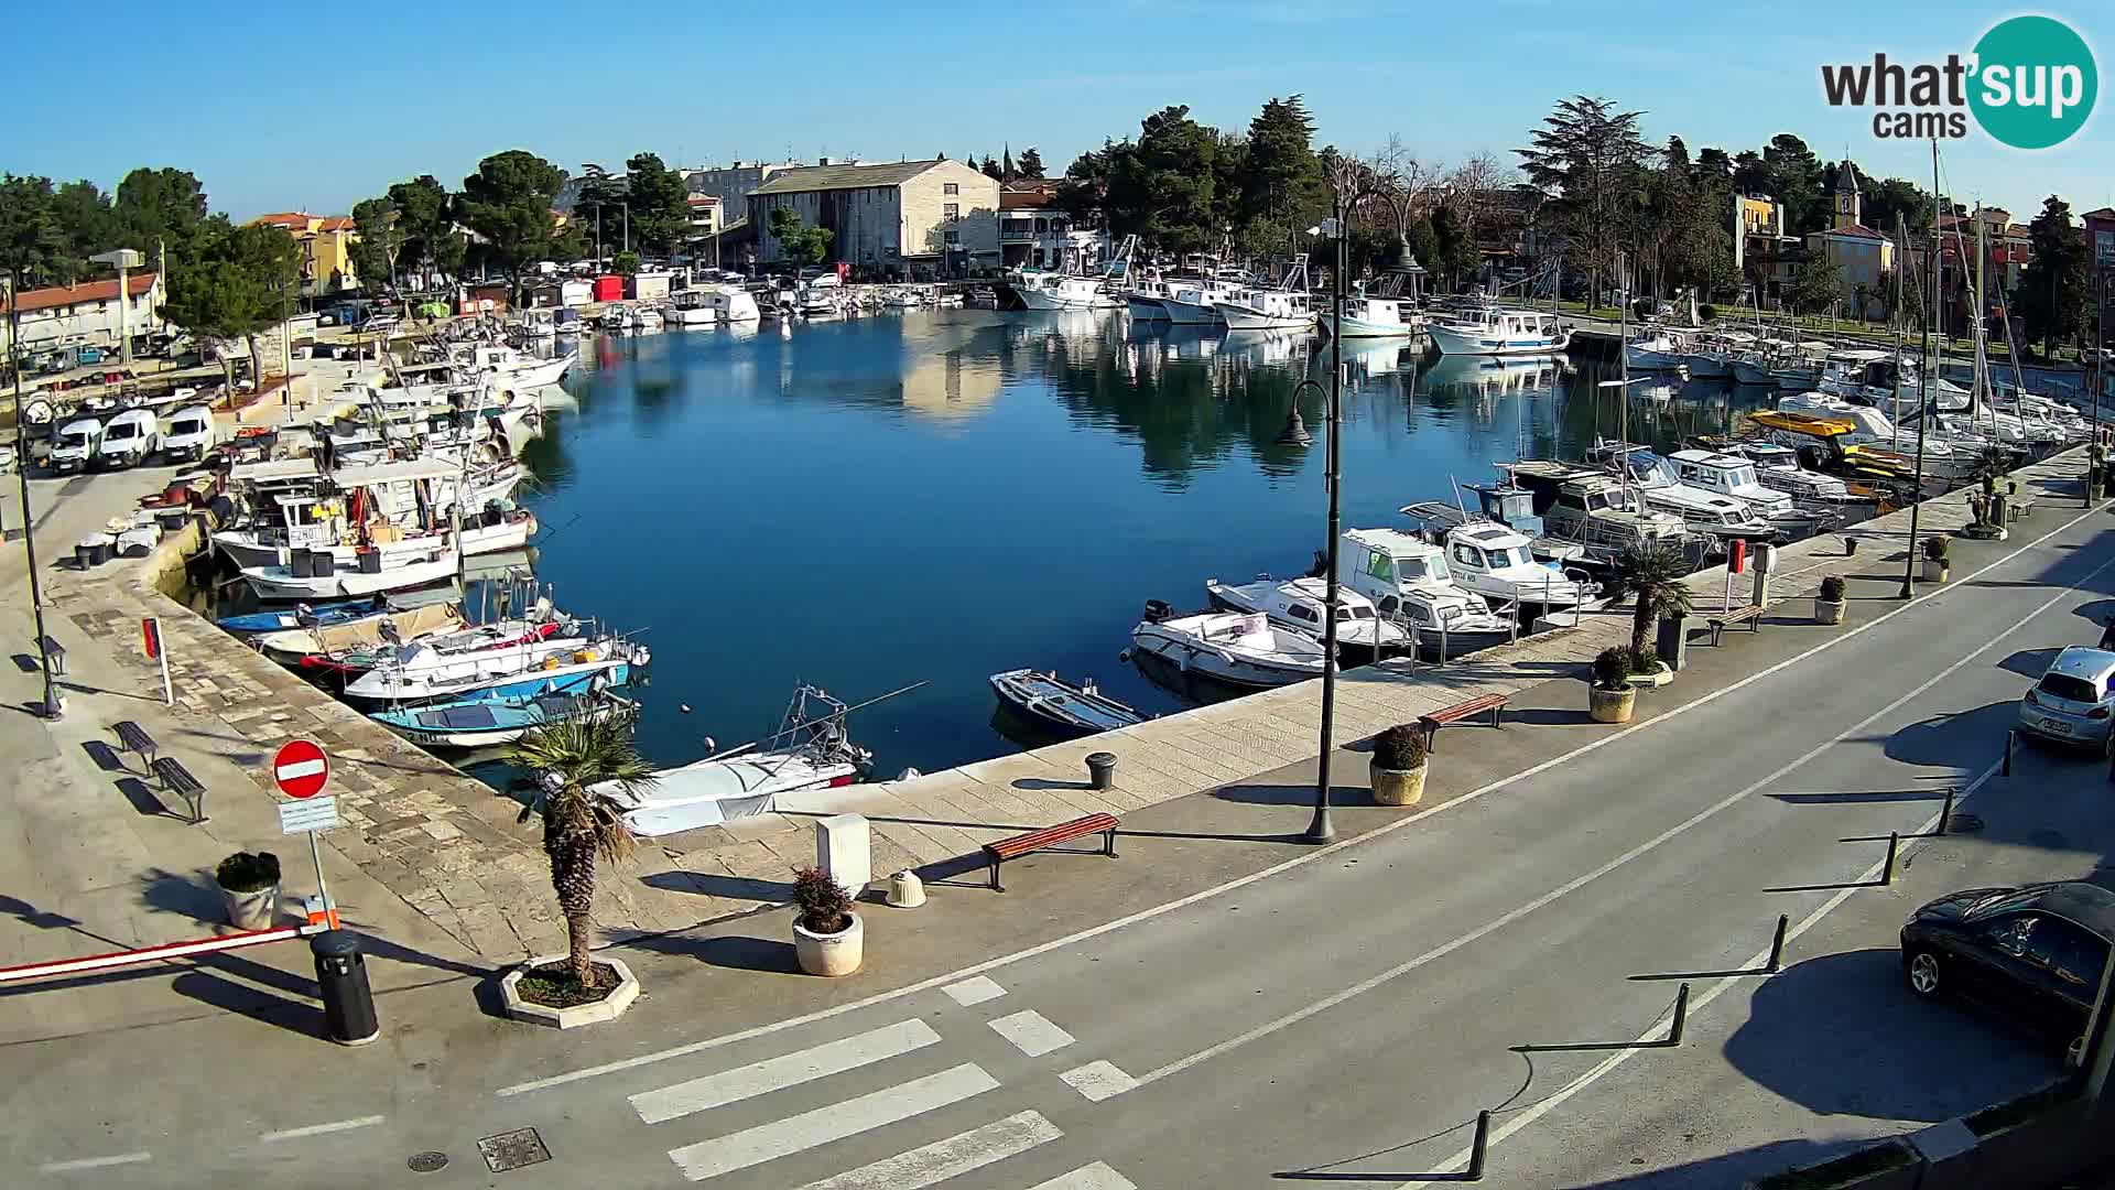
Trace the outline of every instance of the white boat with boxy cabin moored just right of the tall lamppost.
[[1337, 542], [1337, 578], [1371, 597], [1383, 620], [1409, 627], [1428, 661], [1451, 661], [1519, 633], [1519, 620], [1455, 587], [1447, 551], [1411, 534], [1347, 529]]

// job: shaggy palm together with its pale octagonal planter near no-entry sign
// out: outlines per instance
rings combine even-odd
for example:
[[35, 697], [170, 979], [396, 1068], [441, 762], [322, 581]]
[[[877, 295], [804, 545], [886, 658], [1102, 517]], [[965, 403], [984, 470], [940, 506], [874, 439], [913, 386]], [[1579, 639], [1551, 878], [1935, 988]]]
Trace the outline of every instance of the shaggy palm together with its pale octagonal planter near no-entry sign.
[[501, 980], [508, 1012], [560, 1029], [609, 1021], [639, 995], [639, 980], [622, 959], [594, 959], [594, 872], [599, 862], [630, 855], [624, 807], [654, 783], [654, 767], [632, 750], [630, 724], [615, 718], [531, 731], [508, 760], [537, 773], [546, 790], [522, 807], [520, 822], [544, 817], [544, 858], [567, 938], [565, 955], [537, 955]]

